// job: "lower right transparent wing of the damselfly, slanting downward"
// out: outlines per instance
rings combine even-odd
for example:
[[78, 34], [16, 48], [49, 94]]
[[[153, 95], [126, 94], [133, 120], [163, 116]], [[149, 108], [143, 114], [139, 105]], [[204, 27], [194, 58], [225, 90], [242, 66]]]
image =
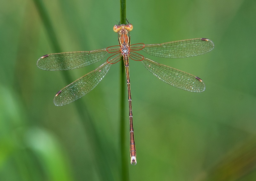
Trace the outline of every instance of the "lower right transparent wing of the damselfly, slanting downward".
[[146, 57], [141, 62], [149, 72], [171, 86], [190, 92], [203, 92], [205, 90], [204, 82], [199, 77], [163, 64], [158, 64]]

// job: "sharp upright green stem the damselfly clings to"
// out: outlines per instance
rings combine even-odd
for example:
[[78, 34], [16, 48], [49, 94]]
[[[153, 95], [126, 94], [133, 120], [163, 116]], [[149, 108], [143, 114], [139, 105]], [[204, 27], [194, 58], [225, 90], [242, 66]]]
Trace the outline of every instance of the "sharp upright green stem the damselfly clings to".
[[[121, 15], [121, 24], [126, 24], [126, 1], [120, 0], [120, 15]], [[126, 123], [125, 117], [125, 69], [124, 64], [120, 64], [120, 146], [121, 146], [121, 174], [122, 180], [129, 180], [129, 160], [128, 158], [128, 147], [126, 146], [127, 140], [125, 139], [125, 135], [127, 134], [127, 130], [125, 129], [128, 123]]]

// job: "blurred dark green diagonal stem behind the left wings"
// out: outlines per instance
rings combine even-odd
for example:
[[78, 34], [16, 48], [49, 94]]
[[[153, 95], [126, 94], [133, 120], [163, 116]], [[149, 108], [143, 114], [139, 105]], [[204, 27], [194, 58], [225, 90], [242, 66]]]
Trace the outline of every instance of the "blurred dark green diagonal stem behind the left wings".
[[[43, 21], [46, 32], [51, 41], [53, 50], [55, 52], [62, 52], [60, 44], [58, 43], [59, 41], [52, 26], [51, 19], [48, 16], [47, 9], [45, 8], [42, 0], [34, 0], [34, 3], [36, 5], [39, 16]], [[72, 82], [71, 76], [67, 71], [61, 71], [61, 73], [67, 84]], [[93, 165], [95, 165], [95, 169], [98, 172], [100, 180], [114, 180], [111, 171], [109, 171], [109, 155], [104, 155], [104, 153], [102, 152], [102, 150], [104, 150], [105, 148], [103, 148], [100, 142], [100, 138], [97, 134], [97, 130], [95, 126], [92, 124], [92, 119], [90, 117], [89, 111], [82, 102], [78, 101], [74, 102], [74, 104], [76, 106], [77, 113], [80, 119], [82, 120], [82, 123], [84, 124], [84, 130], [87, 133], [87, 137], [92, 148], [92, 153], [94, 153], [94, 160], [92, 160], [92, 162]]]

